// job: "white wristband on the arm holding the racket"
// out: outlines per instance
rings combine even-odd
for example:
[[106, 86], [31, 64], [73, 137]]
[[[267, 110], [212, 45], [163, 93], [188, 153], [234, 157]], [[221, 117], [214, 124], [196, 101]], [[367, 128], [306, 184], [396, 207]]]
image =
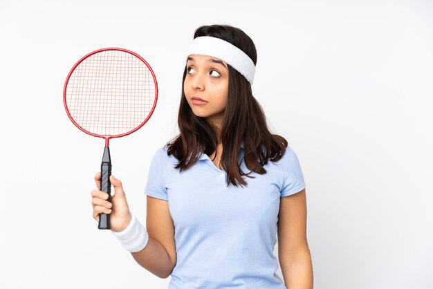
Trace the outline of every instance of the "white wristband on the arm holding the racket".
[[149, 241], [149, 234], [147, 234], [145, 226], [132, 213], [131, 223], [129, 223], [125, 230], [122, 232], [111, 232], [114, 236], [118, 237], [123, 248], [129, 252], [141, 251]]

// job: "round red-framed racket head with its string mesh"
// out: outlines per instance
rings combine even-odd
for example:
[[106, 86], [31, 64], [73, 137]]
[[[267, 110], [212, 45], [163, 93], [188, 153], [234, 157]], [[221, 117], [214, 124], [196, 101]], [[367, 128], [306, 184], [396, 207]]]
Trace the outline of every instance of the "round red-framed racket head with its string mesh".
[[151, 66], [124, 48], [102, 48], [82, 57], [66, 77], [68, 118], [91, 136], [127, 136], [154, 113], [158, 82]]

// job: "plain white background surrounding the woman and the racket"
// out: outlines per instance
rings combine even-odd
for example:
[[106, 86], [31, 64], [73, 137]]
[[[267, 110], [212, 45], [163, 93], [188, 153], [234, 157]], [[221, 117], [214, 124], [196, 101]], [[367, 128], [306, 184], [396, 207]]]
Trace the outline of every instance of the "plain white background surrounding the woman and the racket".
[[149, 163], [178, 132], [185, 53], [209, 24], [255, 41], [253, 94], [306, 180], [315, 288], [433, 288], [427, 0], [2, 0], [0, 288], [167, 288], [97, 229], [90, 193], [104, 141], [72, 124], [62, 91], [98, 48], [133, 50], [154, 68], [154, 115], [110, 145], [145, 223]]

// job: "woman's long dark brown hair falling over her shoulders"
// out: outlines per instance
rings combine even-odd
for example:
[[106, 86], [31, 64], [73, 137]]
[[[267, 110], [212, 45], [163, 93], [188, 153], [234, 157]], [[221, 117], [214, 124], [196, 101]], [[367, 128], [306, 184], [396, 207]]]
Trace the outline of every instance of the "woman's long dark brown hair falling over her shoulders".
[[[239, 28], [228, 25], [201, 26], [194, 32], [194, 39], [200, 36], [211, 36], [230, 42], [243, 50], [254, 64], [257, 63], [257, 52], [254, 42]], [[232, 66], [228, 65], [228, 101], [225, 107], [221, 131], [216, 131], [205, 118], [194, 115], [185, 100], [183, 82], [187, 68], [183, 71], [181, 105], [178, 112], [179, 135], [167, 142], [167, 154], [176, 157], [176, 169], [183, 171], [199, 160], [201, 154], [211, 155], [219, 142], [222, 142], [221, 167], [227, 172], [229, 182], [237, 186], [247, 185], [242, 176], [249, 176], [252, 171], [266, 174], [264, 165], [268, 160], [276, 162], [281, 159], [288, 142], [282, 136], [270, 133], [266, 117], [259, 102], [252, 96], [248, 80]], [[239, 167], [238, 153], [243, 142], [248, 174]], [[216, 156], [216, 153], [215, 153]]]

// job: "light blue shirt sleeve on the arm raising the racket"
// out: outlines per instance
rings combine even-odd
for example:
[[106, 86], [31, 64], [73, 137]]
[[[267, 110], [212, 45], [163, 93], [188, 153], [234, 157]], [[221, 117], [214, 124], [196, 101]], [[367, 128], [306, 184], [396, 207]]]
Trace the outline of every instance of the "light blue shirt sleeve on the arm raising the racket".
[[154, 198], [168, 201], [167, 188], [165, 187], [165, 174], [163, 174], [163, 165], [165, 164], [165, 153], [163, 148], [156, 151], [152, 158], [149, 173], [147, 175], [147, 185], [145, 194]]

